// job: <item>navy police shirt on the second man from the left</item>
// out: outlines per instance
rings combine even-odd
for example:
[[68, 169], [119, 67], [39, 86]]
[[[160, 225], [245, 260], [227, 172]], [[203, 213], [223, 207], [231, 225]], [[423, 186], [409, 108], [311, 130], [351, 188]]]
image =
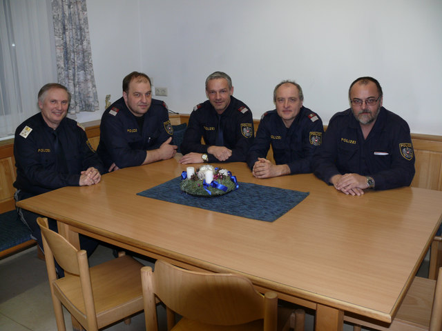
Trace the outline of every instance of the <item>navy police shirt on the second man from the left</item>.
[[97, 153], [106, 170], [112, 163], [118, 168], [142, 165], [146, 150], [160, 148], [173, 135], [166, 105], [156, 99], [144, 114], [142, 128], [122, 97], [104, 111], [99, 130]]

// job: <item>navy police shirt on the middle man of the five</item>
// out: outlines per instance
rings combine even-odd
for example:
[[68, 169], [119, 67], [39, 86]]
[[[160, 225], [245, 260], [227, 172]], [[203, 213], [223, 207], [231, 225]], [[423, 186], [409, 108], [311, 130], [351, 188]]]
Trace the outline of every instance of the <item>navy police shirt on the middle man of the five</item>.
[[[245, 162], [247, 152], [253, 143], [253, 118], [251, 110], [242, 101], [230, 97], [229, 106], [221, 114], [222, 136], [225, 147], [232, 150], [225, 162]], [[218, 134], [218, 114], [209, 100], [193, 109], [181, 144], [182, 154], [190, 152], [207, 153], [207, 148], [215, 146]], [[201, 137], [205, 145], [201, 143]], [[209, 162], [220, 162], [208, 154]]]

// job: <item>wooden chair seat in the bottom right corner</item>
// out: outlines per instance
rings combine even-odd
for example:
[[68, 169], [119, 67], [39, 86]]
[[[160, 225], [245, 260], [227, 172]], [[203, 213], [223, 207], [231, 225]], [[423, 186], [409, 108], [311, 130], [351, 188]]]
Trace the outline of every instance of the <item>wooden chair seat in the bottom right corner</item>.
[[403, 299], [401, 307], [390, 327], [382, 327], [352, 317], [344, 317], [344, 319], [356, 325], [374, 328], [375, 330], [428, 330], [430, 328], [430, 316], [435, 288], [436, 281], [433, 279], [414, 277], [413, 283]]

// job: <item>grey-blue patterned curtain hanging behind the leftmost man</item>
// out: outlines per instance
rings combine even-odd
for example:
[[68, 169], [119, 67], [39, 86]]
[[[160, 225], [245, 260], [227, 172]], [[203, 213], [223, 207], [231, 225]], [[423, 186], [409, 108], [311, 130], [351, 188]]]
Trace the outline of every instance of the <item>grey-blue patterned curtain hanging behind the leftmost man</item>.
[[99, 109], [86, 0], [52, 0], [58, 82], [72, 94], [70, 114]]

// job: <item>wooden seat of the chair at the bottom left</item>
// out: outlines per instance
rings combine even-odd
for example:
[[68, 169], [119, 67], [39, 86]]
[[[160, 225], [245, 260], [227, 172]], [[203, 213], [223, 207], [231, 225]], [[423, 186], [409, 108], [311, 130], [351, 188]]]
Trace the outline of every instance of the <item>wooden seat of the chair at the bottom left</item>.
[[[90, 268], [98, 328], [124, 319], [128, 312], [143, 310], [142, 266], [125, 255]], [[73, 303], [76, 312], [73, 315], [82, 324], [86, 323], [86, 310], [82, 294], [77, 290], [79, 286], [79, 277], [70, 274], [54, 282], [55, 294], [66, 307], [71, 306], [70, 302]], [[115, 290], [109, 291], [109, 288]]]

